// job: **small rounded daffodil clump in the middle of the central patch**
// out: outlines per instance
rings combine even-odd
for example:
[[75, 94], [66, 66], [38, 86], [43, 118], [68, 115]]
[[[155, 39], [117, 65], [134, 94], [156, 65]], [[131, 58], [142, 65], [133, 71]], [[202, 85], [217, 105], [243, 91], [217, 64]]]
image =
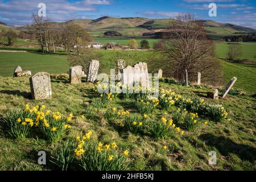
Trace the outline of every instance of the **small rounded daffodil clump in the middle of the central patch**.
[[159, 105], [158, 98], [151, 98], [148, 97], [146, 100], [137, 100], [136, 106], [141, 114], [149, 114], [155, 109], [156, 106]]

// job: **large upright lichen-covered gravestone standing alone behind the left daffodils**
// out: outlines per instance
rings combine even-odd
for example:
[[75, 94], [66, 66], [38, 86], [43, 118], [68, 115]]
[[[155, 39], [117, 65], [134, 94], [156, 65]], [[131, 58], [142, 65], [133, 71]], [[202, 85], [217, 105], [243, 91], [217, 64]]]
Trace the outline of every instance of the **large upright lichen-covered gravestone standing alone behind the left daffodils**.
[[30, 77], [30, 89], [34, 100], [51, 99], [52, 87], [49, 73], [39, 72]]

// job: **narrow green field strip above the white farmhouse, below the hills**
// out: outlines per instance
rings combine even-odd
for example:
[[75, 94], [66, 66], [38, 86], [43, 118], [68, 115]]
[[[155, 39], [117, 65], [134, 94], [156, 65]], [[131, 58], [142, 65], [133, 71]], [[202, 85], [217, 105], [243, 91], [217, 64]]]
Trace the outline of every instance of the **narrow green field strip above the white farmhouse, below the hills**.
[[[94, 38], [94, 41], [98, 41], [102, 44], [107, 44], [109, 42], [117, 42], [119, 45], [121, 46], [127, 46], [130, 38]], [[155, 42], [158, 42], [159, 39], [136, 39], [138, 44], [142, 41], [142, 40], [147, 40], [148, 43], [150, 44], [150, 47], [152, 48], [154, 46]]]

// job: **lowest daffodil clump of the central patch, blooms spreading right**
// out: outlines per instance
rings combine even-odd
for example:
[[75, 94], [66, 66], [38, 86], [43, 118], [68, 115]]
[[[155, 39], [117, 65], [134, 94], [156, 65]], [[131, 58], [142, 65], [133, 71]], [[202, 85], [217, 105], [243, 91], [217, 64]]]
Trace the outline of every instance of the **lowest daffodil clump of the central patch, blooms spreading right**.
[[184, 131], [181, 131], [180, 127], [177, 127], [172, 119], [167, 120], [164, 117], [162, 117], [160, 121], [149, 122], [148, 131], [151, 137], [155, 139], [170, 138], [175, 132], [181, 135], [184, 134]]

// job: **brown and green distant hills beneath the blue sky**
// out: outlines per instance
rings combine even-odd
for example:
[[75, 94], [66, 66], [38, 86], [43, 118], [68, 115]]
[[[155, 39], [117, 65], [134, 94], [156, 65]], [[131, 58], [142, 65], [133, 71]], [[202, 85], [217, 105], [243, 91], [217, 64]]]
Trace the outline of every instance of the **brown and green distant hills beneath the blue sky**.
[[[69, 20], [75, 24], [84, 27], [86, 31], [93, 37], [104, 37], [104, 33], [108, 31], [116, 31], [124, 37], [142, 37], [142, 35], [152, 35], [154, 32], [163, 31], [170, 22], [175, 19], [149, 19], [142, 17], [115, 18], [110, 16], [102, 16], [98, 19], [74, 19]], [[237, 26], [230, 23], [218, 23], [213, 20], [202, 20], [205, 30], [213, 39], [220, 39], [224, 36], [234, 34], [244, 34], [256, 32], [254, 28]], [[65, 22], [65, 23], [68, 23]], [[1, 24], [0, 24], [1, 25]], [[16, 27], [18, 30], [24, 30], [25, 27]]]

